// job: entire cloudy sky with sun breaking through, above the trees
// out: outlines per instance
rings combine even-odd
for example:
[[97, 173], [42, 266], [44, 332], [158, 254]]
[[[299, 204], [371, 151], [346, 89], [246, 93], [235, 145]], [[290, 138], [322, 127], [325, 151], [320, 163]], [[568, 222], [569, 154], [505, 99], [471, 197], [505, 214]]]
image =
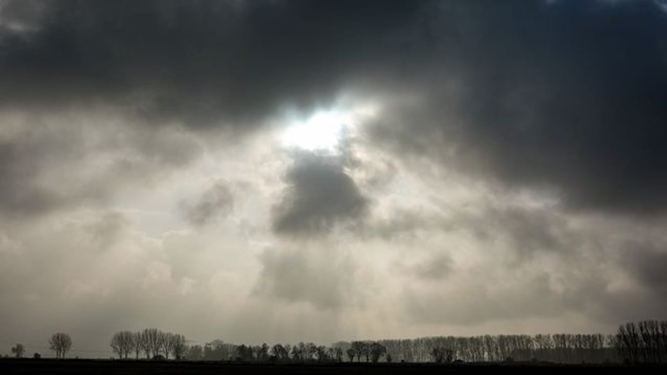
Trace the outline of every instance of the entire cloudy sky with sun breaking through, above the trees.
[[667, 311], [667, 2], [0, 3], [0, 353]]

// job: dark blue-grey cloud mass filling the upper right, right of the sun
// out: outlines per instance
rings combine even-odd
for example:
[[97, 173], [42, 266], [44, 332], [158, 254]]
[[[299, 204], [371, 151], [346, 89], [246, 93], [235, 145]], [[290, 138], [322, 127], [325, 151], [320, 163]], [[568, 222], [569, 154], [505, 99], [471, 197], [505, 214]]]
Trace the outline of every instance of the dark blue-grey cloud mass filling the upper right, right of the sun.
[[570, 208], [666, 208], [667, 17], [653, 3], [441, 2], [426, 28], [429, 81], [375, 139]]

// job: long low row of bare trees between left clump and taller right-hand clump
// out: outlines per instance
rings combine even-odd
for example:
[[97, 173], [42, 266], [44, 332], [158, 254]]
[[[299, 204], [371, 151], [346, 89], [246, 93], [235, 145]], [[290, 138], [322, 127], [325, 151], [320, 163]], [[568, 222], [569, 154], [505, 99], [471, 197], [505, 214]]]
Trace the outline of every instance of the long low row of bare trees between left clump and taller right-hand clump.
[[620, 362], [616, 335], [538, 334], [436, 336], [406, 340], [336, 342], [317, 346], [311, 342], [269, 346], [235, 345], [214, 340], [189, 346], [187, 360], [336, 361], [350, 362], [504, 362], [560, 363]]

